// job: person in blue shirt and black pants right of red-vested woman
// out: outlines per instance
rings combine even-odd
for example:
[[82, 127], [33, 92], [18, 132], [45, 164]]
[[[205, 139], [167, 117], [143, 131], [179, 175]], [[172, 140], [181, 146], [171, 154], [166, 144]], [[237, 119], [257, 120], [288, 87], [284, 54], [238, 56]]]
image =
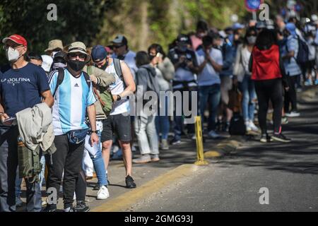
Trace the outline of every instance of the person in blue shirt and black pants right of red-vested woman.
[[[297, 93], [295, 85], [298, 81], [298, 76], [301, 75], [302, 71], [300, 66], [297, 64], [295, 57], [298, 54], [298, 37], [296, 35], [296, 26], [294, 23], [287, 23], [284, 30], [287, 42], [285, 47], [282, 49], [282, 58], [284, 61], [285, 71], [288, 74], [288, 86], [289, 90], [286, 92], [284, 109], [287, 117], [299, 117], [297, 107]], [[290, 109], [291, 105], [291, 109]]]

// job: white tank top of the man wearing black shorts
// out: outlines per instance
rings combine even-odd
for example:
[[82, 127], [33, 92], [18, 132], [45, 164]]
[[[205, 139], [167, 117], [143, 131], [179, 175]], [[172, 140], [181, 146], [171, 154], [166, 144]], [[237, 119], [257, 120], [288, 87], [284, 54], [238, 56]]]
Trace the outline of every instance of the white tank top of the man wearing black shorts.
[[[114, 61], [112, 61], [112, 64], [110, 64], [110, 66], [107, 66], [107, 69], [105, 69], [105, 71], [107, 73], [113, 74], [116, 79], [114, 83], [110, 84], [112, 95], [119, 95], [124, 92], [124, 81], [122, 81], [122, 79], [119, 78], [119, 76], [117, 75], [116, 70], [114, 69]], [[114, 102], [110, 115], [123, 114], [129, 112], [129, 110], [129, 100], [126, 97], [123, 97], [122, 100]]]

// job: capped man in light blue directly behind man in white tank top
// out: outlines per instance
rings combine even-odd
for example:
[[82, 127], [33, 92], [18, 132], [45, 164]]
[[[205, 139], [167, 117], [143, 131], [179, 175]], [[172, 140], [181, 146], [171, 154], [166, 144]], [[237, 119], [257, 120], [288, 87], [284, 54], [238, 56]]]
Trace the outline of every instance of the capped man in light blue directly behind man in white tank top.
[[124, 37], [124, 35], [117, 35], [114, 40], [112, 40], [112, 49], [114, 51], [112, 58], [124, 61], [129, 66], [135, 78], [136, 71], [138, 70], [135, 61], [136, 53], [129, 49], [126, 37]]

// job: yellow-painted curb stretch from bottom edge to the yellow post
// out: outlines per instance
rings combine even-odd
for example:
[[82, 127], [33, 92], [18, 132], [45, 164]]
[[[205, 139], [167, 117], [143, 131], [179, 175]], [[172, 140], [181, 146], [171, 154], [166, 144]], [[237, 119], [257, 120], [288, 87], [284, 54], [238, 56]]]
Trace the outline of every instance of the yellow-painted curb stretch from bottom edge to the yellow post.
[[192, 164], [180, 165], [132, 191], [126, 192], [111, 201], [102, 203], [102, 205], [94, 208], [91, 212], [118, 212], [129, 209], [134, 203], [147, 198], [147, 196], [151, 196], [151, 194], [163, 189], [177, 179], [193, 174], [199, 168]]

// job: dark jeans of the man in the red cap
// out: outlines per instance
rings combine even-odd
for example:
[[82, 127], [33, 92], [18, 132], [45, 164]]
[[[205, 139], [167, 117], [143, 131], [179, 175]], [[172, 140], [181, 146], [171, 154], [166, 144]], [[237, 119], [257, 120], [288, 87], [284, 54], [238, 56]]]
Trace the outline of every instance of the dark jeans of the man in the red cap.
[[[0, 212], [16, 211], [16, 176], [18, 168], [18, 126], [0, 127]], [[39, 183], [26, 184], [26, 211], [42, 209]]]

